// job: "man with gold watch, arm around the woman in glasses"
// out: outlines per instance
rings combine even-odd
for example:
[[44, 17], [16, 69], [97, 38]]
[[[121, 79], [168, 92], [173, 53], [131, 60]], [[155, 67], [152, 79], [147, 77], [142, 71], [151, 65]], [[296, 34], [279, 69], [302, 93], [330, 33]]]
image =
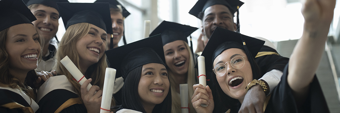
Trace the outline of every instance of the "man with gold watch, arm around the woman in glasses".
[[[239, 0], [199, 0], [190, 10], [189, 14], [202, 20], [202, 34], [208, 39], [216, 27], [222, 27], [231, 31], [239, 32], [239, 22], [235, 23], [234, 14], [238, 12], [238, 8], [244, 3]], [[228, 36], [225, 36], [228, 37]], [[200, 43], [200, 42], [198, 42]], [[266, 43], [271, 43], [268, 40]], [[201, 45], [198, 44], [198, 49], [204, 49], [203, 41]], [[197, 50], [200, 52], [202, 50]], [[282, 76], [284, 66], [288, 63], [288, 58], [280, 56], [274, 48], [270, 45], [262, 46], [260, 52], [256, 55], [255, 61], [261, 69], [259, 80], [266, 84], [269, 90], [265, 90], [259, 84], [250, 86], [248, 93], [245, 95], [240, 111], [250, 110], [249, 112], [263, 112], [263, 103], [266, 95], [268, 96], [272, 89], [276, 87]], [[263, 92], [263, 93], [262, 93]], [[214, 99], [218, 99], [215, 98]], [[225, 112], [225, 108], [221, 104], [215, 104], [214, 112]], [[229, 108], [228, 108], [229, 109]], [[261, 110], [262, 109], [262, 110]], [[218, 111], [222, 110], [222, 111]]]

